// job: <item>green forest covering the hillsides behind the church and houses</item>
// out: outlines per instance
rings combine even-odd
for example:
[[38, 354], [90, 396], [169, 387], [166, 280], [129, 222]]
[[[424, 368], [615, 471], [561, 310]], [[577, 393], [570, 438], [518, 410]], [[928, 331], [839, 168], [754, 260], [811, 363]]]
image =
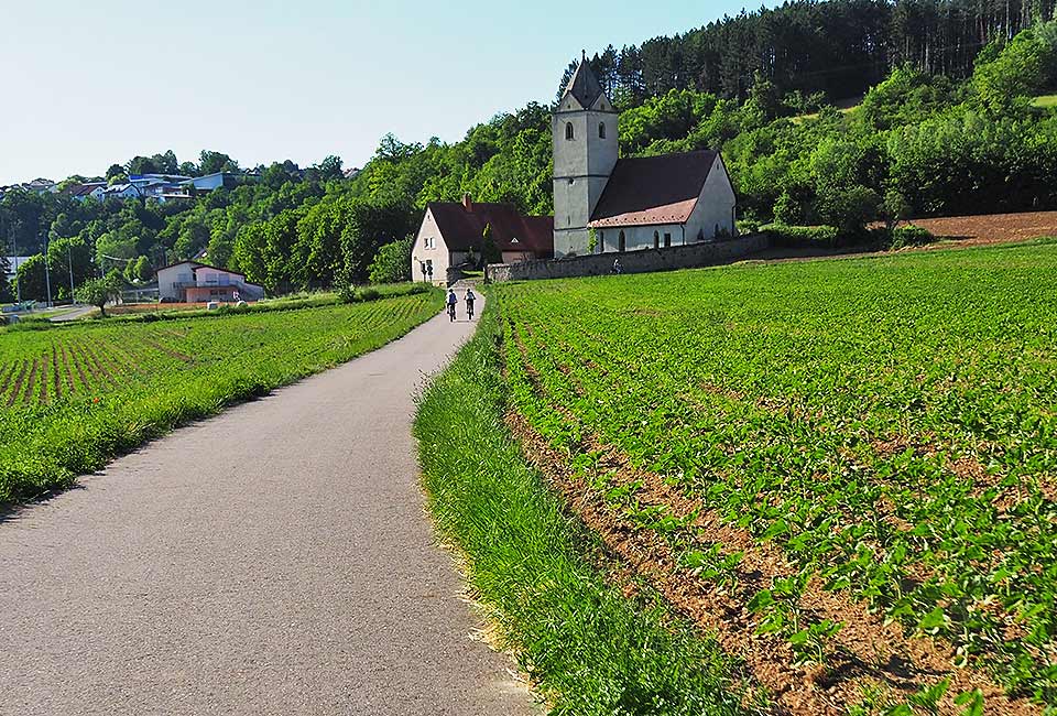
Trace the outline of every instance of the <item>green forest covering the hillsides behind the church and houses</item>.
[[[747, 230], [856, 234], [880, 219], [1057, 208], [1057, 111], [1033, 105], [1057, 91], [1055, 2], [787, 2], [590, 62], [622, 110], [621, 154], [721, 150]], [[851, 96], [858, 105], [837, 108]], [[197, 163], [165, 152], [106, 178], [238, 169], [221, 152]], [[468, 193], [549, 214], [551, 174], [551, 107], [530, 102], [458, 142], [386, 135], [351, 178], [329, 156], [166, 204], [8, 192], [0, 239], [37, 254], [20, 269], [33, 299], [45, 295], [45, 261], [64, 296], [100, 272], [146, 282], [201, 251], [272, 294], [395, 281], [426, 203]], [[9, 286], [0, 293], [10, 300]]]

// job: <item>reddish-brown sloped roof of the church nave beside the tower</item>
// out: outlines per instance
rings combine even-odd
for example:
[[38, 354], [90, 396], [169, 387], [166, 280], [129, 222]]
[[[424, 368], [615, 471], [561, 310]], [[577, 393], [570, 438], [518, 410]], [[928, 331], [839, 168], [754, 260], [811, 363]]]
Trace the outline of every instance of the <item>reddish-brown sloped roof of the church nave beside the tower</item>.
[[589, 226], [685, 224], [717, 154], [700, 150], [617, 160]]

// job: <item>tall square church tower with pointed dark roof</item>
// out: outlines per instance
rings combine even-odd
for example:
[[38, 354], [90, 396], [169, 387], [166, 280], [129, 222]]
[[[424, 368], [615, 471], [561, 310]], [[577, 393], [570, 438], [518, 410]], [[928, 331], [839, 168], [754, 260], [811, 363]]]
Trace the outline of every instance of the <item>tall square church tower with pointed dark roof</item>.
[[551, 121], [557, 258], [590, 252], [587, 224], [617, 164], [618, 117], [585, 54]]

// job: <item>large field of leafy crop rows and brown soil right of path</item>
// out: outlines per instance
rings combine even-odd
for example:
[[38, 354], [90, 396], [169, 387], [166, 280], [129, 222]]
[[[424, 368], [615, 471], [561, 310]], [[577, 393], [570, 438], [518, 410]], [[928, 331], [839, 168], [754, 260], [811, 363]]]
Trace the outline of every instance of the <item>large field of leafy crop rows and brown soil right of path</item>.
[[494, 297], [526, 456], [780, 713], [1057, 706], [1057, 243]]

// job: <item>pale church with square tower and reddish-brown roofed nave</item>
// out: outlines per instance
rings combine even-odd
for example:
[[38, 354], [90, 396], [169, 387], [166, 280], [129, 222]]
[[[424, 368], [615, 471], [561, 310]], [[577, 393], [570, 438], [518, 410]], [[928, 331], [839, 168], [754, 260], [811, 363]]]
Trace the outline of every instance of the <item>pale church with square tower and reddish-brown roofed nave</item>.
[[619, 117], [585, 56], [552, 119], [555, 256], [733, 236], [737, 197], [719, 152], [621, 159]]

